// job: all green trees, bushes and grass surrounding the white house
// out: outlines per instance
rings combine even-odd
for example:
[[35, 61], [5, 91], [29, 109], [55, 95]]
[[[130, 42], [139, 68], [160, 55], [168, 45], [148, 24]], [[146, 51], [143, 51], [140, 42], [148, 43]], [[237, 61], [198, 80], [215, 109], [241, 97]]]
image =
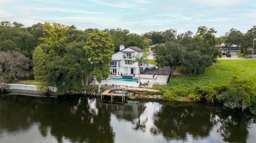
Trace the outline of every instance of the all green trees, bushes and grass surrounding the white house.
[[[49, 22], [25, 27], [18, 22], [2, 21], [0, 82], [47, 85], [57, 87], [61, 94], [81, 93], [93, 76], [99, 83], [108, 78], [111, 55], [119, 45], [138, 46], [145, 49], [147, 56], [147, 46], [154, 44], [155, 60], [147, 62], [171, 68], [170, 85], [153, 87], [160, 90], [157, 94], [163, 98], [221, 103], [243, 110], [254, 108], [255, 61], [218, 61], [221, 55], [217, 45], [241, 45], [246, 56], [247, 48], [253, 44], [250, 40], [256, 36], [256, 26], [246, 33], [230, 29], [221, 37], [216, 37], [216, 32], [201, 26], [195, 34], [178, 34], [177, 30], [169, 29], [137, 35], [127, 29], [78, 30], [75, 26]], [[33, 78], [34, 81], [26, 80]]]

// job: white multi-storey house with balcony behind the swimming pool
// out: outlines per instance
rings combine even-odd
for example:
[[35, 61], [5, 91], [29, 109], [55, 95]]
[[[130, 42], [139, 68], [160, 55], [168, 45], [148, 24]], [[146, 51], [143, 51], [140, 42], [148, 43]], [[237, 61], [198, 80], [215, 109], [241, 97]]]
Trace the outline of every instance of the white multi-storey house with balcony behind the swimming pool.
[[143, 72], [146, 68], [144, 64], [139, 69], [138, 62], [133, 62], [134, 56], [143, 56], [144, 50], [139, 47], [124, 47], [120, 45], [119, 51], [112, 55], [112, 61], [109, 63], [110, 74], [121, 75], [121, 74], [138, 74]]

